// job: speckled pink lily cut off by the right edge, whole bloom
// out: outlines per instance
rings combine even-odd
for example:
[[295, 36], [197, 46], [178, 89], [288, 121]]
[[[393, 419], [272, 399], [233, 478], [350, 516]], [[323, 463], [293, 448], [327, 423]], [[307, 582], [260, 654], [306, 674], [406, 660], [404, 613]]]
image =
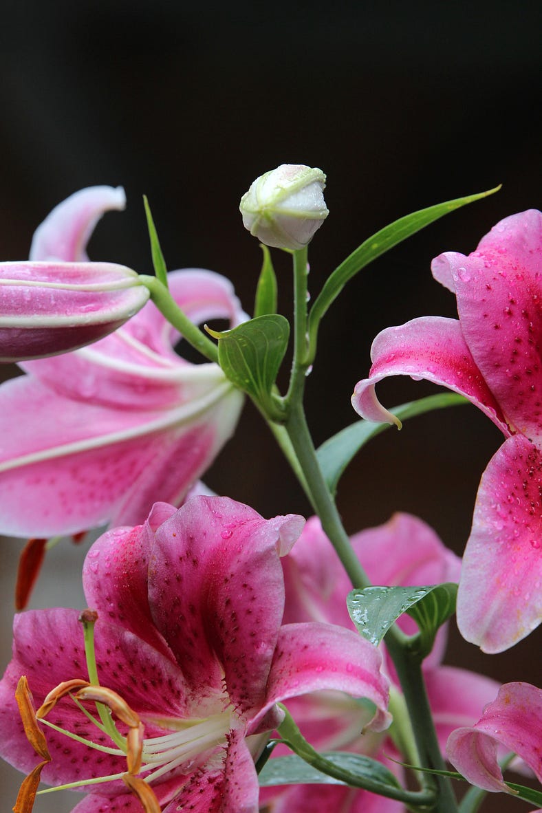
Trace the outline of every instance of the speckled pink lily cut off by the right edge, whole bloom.
[[397, 419], [375, 397], [386, 376], [410, 375], [462, 393], [505, 435], [480, 481], [463, 557], [457, 624], [467, 641], [501, 652], [542, 620], [542, 215], [496, 224], [476, 251], [431, 264], [456, 294], [459, 320], [427, 316], [379, 333], [353, 407]]

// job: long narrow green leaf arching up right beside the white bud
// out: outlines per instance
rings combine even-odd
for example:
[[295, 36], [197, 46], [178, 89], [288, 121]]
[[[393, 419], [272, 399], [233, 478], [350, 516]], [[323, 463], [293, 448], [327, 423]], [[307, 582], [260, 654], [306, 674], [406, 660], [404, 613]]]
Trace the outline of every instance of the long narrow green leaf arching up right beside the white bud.
[[397, 246], [410, 235], [415, 234], [421, 228], [428, 226], [434, 220], [438, 220], [443, 215], [448, 215], [449, 212], [465, 206], [466, 203], [472, 203], [487, 198], [488, 195], [497, 192], [501, 186], [496, 186], [494, 189], [489, 189], [487, 192], [480, 192], [474, 195], [467, 195], [465, 198], [456, 198], [452, 201], [444, 203], [437, 203], [436, 206], [428, 207], [427, 209], [420, 209], [414, 211], [411, 215], [405, 215], [394, 223], [381, 228], [372, 237], [368, 237], [366, 241], [362, 242], [361, 246], [353, 250], [352, 254], [340, 263], [332, 272], [323, 285], [319, 296], [315, 299], [314, 305], [310, 311], [310, 327], [309, 333], [311, 342], [314, 343], [314, 333], [318, 329], [319, 321], [327, 311], [327, 308], [339, 295], [340, 291], [344, 288], [345, 284], [355, 274], [366, 267], [374, 259], [390, 250], [393, 246]]

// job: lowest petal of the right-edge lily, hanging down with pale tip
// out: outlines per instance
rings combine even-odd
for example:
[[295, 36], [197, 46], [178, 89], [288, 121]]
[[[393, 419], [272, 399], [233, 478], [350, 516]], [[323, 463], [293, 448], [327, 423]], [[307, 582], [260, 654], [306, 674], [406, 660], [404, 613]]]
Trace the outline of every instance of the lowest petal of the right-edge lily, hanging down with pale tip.
[[457, 625], [502, 652], [542, 620], [542, 454], [514, 435], [480, 481], [457, 593]]

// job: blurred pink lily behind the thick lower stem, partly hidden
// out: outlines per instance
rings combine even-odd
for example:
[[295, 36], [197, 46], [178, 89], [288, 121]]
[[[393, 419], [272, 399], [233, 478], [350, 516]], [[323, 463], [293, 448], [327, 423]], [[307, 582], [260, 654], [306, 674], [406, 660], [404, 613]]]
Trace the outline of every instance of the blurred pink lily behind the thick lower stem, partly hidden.
[[[351, 537], [353, 549], [376, 585], [431, 585], [457, 580], [460, 561], [444, 547], [429, 526], [408, 514], [396, 514], [378, 528], [367, 528]], [[307, 521], [299, 541], [283, 559], [286, 606], [284, 621], [329, 622], [353, 629], [346, 608], [351, 589], [344, 567], [323, 533], [317, 518]], [[406, 633], [414, 633], [416, 624], [408, 617], [399, 620]], [[445, 629], [437, 637], [436, 647], [423, 663], [427, 693], [441, 749], [449, 734], [459, 725], [472, 724], [483, 706], [495, 696], [493, 680], [463, 669], [441, 666]], [[384, 646], [381, 647], [384, 650]], [[391, 659], [384, 659], [392, 678], [390, 711], [401, 706], [399, 687]], [[397, 705], [398, 704], [398, 705]], [[388, 769], [401, 776], [401, 769], [386, 761], [387, 755], [410, 762], [410, 754], [401, 754], [389, 732], [360, 736], [366, 711], [347, 698], [308, 694], [289, 700], [288, 709], [304, 736], [317, 750], [348, 750], [381, 759]], [[275, 756], [284, 755], [275, 749]], [[272, 759], [272, 757], [271, 757]], [[401, 802], [385, 799], [364, 790], [340, 785], [302, 785], [288, 789], [264, 789], [263, 798], [272, 813], [402, 813]]]

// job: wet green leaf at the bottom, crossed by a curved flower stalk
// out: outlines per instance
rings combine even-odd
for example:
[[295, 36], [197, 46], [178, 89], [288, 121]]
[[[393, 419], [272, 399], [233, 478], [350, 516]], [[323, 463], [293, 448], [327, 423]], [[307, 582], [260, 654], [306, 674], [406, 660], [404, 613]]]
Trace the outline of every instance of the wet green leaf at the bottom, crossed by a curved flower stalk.
[[[351, 754], [348, 751], [326, 751], [319, 754], [327, 763], [337, 769], [347, 771], [358, 778], [365, 777], [372, 783], [399, 788], [392, 772], [375, 759], [362, 754]], [[347, 783], [335, 776], [322, 773], [306, 763], [304, 759], [292, 754], [288, 757], [269, 759], [258, 776], [260, 785], [345, 785]]]

